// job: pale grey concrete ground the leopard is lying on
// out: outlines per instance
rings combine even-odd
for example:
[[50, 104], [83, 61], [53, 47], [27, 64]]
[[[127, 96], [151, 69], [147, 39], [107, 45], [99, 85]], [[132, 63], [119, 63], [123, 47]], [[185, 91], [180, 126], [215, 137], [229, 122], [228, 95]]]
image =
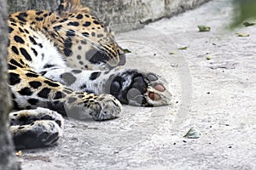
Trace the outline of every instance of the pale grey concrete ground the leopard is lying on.
[[[131, 50], [127, 66], [165, 77], [173, 105], [124, 106], [122, 116], [108, 122], [66, 120], [60, 143], [22, 150], [21, 167], [256, 169], [256, 31], [226, 28], [231, 2], [214, 0], [117, 35]], [[199, 32], [197, 25], [211, 31]], [[198, 139], [183, 138], [190, 127], [199, 131]]]

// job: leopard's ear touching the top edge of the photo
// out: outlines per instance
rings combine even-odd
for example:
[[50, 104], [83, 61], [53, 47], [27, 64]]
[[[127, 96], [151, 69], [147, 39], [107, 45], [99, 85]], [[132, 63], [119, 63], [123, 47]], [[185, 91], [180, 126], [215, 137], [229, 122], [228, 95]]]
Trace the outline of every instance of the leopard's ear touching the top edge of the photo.
[[90, 8], [84, 8], [80, 0], [61, 0], [57, 11], [59, 14], [76, 13], [78, 11], [90, 13]]

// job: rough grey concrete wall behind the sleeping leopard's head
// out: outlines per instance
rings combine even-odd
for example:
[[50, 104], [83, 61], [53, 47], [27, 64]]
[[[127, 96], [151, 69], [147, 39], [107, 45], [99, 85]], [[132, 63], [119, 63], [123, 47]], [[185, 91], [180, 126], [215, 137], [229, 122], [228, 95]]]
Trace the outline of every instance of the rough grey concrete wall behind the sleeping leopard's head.
[[[90, 7], [104, 23], [113, 26], [115, 31], [129, 31], [143, 27], [143, 23], [160, 20], [195, 8], [209, 0], [81, 0], [84, 6]], [[9, 13], [27, 9], [55, 10], [59, 0], [9, 0]], [[119, 26], [130, 23], [125, 27]]]

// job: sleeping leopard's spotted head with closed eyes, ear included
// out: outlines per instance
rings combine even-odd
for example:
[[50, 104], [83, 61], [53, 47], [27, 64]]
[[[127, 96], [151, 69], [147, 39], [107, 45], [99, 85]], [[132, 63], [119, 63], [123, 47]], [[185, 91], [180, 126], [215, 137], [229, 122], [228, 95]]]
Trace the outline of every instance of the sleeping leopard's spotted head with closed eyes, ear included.
[[69, 65], [81, 69], [125, 65], [125, 53], [105, 26], [80, 0], [61, 0], [49, 32]]

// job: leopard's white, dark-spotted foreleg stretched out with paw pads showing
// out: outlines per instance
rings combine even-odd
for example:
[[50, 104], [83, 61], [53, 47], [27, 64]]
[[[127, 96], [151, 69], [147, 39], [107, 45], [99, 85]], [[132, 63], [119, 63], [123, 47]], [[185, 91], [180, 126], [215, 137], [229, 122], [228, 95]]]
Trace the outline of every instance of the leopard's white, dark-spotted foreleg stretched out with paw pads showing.
[[76, 91], [112, 94], [128, 105], [159, 106], [171, 104], [161, 77], [138, 70], [82, 71], [72, 68], [48, 69], [44, 75]]

